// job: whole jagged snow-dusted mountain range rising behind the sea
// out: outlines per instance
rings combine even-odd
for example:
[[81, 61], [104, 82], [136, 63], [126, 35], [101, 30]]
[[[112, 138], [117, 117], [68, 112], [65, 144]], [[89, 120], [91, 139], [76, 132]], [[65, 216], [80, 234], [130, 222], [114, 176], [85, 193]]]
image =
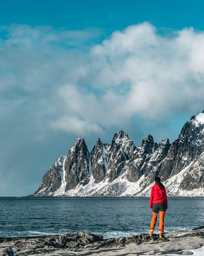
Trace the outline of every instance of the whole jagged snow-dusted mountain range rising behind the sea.
[[98, 139], [90, 154], [84, 139], [77, 139], [30, 196], [149, 196], [156, 176], [169, 196], [204, 196], [204, 111], [184, 124], [172, 144], [157, 144], [148, 135], [135, 147], [120, 131], [111, 144]]

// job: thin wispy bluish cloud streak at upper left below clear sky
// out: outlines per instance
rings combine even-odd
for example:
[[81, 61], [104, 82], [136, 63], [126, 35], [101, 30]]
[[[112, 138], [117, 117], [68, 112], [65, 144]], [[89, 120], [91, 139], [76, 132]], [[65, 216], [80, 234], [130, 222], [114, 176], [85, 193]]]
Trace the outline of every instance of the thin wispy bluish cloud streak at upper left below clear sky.
[[[90, 40], [94, 40], [101, 34], [101, 30], [89, 27], [83, 30], [54, 29], [51, 26], [35, 26], [12, 24], [0, 27], [0, 32], [7, 38], [4, 43], [7, 47], [42, 48], [42, 46], [54, 48], [59, 45], [79, 46]], [[1, 42], [1, 41], [0, 41]], [[2, 42], [3, 43], [3, 42]]]

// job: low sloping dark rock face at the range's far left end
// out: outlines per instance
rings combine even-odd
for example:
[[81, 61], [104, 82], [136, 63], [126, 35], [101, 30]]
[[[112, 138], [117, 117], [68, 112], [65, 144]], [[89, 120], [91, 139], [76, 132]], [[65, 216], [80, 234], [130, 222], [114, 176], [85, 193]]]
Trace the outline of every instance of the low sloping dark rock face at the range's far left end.
[[60, 158], [49, 168], [42, 178], [40, 187], [35, 191], [37, 193], [52, 193], [61, 186], [61, 177], [63, 172], [64, 156]]

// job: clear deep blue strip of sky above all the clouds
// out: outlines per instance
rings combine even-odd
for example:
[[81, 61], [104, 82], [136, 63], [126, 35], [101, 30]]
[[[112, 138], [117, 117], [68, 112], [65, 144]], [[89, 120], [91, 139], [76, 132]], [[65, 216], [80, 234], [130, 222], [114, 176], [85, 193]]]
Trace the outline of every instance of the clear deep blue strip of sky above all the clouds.
[[149, 21], [159, 28], [204, 29], [202, 0], [35, 0], [1, 1], [2, 25], [11, 23], [51, 25], [70, 29], [116, 29]]

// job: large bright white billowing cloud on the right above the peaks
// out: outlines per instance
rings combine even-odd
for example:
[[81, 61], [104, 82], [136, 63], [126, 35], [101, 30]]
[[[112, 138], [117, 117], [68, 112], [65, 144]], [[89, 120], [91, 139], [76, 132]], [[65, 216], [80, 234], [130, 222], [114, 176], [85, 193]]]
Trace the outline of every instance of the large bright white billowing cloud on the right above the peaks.
[[94, 46], [88, 60], [84, 79], [102, 93], [77, 84], [59, 89], [67, 111], [86, 120], [109, 127], [134, 115], [157, 120], [202, 111], [203, 32], [183, 29], [165, 38], [149, 23], [133, 25]]

